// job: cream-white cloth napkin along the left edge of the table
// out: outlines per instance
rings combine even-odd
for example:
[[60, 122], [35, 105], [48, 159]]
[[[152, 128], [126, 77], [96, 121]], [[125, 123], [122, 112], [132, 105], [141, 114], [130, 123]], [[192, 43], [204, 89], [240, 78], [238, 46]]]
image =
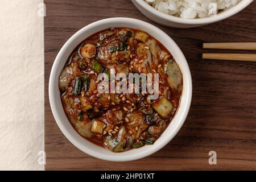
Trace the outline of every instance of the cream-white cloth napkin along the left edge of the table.
[[0, 169], [44, 170], [43, 0], [1, 0]]

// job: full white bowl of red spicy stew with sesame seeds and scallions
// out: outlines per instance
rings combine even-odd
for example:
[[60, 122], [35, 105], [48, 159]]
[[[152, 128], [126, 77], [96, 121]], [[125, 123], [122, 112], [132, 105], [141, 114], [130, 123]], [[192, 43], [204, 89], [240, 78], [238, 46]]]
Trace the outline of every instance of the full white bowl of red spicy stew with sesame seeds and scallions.
[[180, 48], [159, 28], [131, 18], [100, 20], [76, 32], [49, 78], [52, 113], [65, 137], [86, 154], [117, 162], [169, 143], [191, 98]]

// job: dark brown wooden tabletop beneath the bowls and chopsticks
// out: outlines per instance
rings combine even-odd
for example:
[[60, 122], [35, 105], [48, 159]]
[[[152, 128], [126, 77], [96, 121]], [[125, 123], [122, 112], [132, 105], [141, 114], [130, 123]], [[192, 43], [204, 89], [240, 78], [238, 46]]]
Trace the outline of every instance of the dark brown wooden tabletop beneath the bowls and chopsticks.
[[[256, 63], [201, 59], [203, 42], [256, 42], [255, 1], [229, 19], [192, 29], [151, 22], [127, 0], [44, 2], [47, 170], [256, 169]], [[150, 22], [170, 35], [187, 57], [193, 79], [191, 109], [176, 137], [155, 154], [125, 163], [96, 159], [73, 146], [57, 127], [48, 100], [49, 73], [61, 46], [87, 24], [115, 16]], [[208, 163], [212, 150], [217, 165]]]

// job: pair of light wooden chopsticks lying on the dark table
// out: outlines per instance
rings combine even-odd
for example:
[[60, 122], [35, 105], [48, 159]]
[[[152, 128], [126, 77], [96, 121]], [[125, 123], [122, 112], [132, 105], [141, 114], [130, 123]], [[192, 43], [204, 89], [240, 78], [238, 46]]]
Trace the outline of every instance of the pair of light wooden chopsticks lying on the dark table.
[[[205, 49], [256, 50], [256, 42], [203, 43]], [[256, 53], [203, 53], [203, 59], [256, 62]]]

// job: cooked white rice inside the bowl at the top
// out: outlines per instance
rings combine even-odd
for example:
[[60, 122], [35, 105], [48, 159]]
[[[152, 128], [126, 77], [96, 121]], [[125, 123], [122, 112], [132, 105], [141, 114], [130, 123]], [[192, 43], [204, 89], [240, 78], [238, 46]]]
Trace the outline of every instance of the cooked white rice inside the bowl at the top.
[[181, 18], [214, 16], [236, 6], [241, 0], [144, 0], [156, 10]]

